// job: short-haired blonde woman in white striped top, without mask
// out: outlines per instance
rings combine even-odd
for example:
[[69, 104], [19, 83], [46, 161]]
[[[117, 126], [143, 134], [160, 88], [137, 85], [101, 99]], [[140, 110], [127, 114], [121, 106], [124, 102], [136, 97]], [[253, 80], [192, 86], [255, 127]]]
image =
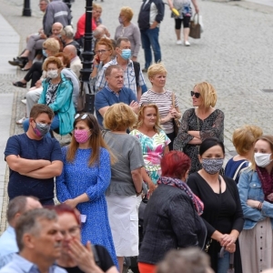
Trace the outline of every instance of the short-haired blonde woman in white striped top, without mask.
[[[140, 105], [143, 103], [153, 103], [157, 105], [160, 117], [160, 126], [170, 139], [168, 145], [169, 150], [173, 149], [173, 141], [175, 139], [174, 118], [181, 118], [178, 107], [177, 96], [172, 91], [165, 88], [167, 69], [163, 63], [157, 63], [149, 66], [147, 76], [152, 87], [141, 96]], [[175, 107], [173, 106], [173, 96], [175, 99]]]

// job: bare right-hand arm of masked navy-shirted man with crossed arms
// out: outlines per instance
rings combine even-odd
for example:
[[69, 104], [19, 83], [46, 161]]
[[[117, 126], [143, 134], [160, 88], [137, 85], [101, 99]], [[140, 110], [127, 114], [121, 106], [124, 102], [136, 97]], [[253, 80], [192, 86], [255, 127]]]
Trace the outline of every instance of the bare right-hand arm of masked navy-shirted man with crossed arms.
[[60, 160], [52, 161], [49, 166], [42, 167], [30, 172], [20, 172], [25, 177], [33, 177], [37, 179], [48, 179], [52, 177], [58, 177], [61, 175], [63, 170], [63, 162]]

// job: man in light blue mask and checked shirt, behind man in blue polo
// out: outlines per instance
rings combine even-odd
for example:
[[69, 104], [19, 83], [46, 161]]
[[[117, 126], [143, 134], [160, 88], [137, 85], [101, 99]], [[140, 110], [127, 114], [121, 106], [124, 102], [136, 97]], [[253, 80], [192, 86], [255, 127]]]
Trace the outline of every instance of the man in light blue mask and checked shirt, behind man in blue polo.
[[116, 40], [116, 58], [107, 63], [97, 75], [96, 86], [101, 89], [106, 86], [105, 71], [108, 66], [118, 65], [124, 70], [124, 86], [133, 90], [137, 100], [142, 93], [147, 91], [144, 76], [140, 70], [139, 63], [131, 59], [131, 43], [128, 38], [120, 37]]

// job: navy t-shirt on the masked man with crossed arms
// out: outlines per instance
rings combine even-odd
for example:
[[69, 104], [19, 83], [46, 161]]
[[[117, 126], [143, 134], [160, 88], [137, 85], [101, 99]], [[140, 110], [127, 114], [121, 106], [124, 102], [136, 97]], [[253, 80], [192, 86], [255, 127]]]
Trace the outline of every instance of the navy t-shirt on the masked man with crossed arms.
[[[5, 157], [20, 156], [25, 159], [45, 159], [62, 161], [60, 144], [55, 138], [43, 137], [41, 140], [30, 139], [26, 134], [11, 136], [5, 147]], [[8, 197], [34, 196], [43, 200], [54, 197], [54, 177], [37, 179], [25, 177], [10, 169], [8, 182]]]

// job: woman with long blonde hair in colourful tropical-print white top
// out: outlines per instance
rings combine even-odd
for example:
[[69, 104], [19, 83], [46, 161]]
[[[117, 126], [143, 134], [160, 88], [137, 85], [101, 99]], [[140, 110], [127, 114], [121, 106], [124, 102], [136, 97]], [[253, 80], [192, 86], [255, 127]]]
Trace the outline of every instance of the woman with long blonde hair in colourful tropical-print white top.
[[170, 143], [166, 133], [160, 127], [156, 105], [147, 104], [140, 107], [136, 126], [130, 135], [136, 136], [140, 141], [145, 162], [141, 173], [143, 180], [148, 185], [149, 192], [152, 193], [161, 176], [160, 160], [168, 153], [167, 145]]

